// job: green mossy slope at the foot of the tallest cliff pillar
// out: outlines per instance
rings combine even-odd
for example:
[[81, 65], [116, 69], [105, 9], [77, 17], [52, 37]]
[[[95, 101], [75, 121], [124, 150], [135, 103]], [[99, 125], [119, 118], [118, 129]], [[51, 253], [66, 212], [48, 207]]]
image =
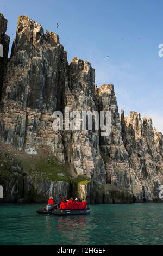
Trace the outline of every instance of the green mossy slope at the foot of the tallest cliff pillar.
[[72, 175], [70, 169], [70, 164], [60, 163], [47, 148], [40, 150], [37, 155], [27, 155], [11, 145], [0, 145], [1, 177], [20, 174], [74, 184], [90, 182], [85, 176]]

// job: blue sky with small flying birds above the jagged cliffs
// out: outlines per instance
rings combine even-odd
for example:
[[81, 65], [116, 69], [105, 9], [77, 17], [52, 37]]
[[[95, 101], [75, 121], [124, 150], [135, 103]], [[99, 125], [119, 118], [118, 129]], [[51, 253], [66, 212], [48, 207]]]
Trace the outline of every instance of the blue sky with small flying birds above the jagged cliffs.
[[[119, 111], [140, 112], [163, 132], [162, 0], [1, 0], [15, 37], [17, 18], [26, 15], [56, 32], [67, 51], [96, 69], [96, 83], [112, 83]], [[59, 29], [55, 26], [59, 23]], [[140, 39], [138, 39], [140, 38]], [[123, 39], [123, 40], [122, 40]], [[109, 56], [110, 58], [106, 58]]]

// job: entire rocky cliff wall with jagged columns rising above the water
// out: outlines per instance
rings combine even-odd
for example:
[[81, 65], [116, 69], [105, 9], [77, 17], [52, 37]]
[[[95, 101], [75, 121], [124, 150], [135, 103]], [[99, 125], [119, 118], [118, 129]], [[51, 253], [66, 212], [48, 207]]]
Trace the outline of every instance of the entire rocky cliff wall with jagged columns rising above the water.
[[[8, 59], [7, 20], [0, 16], [0, 184], [4, 200], [42, 202], [52, 194], [92, 203], [160, 200], [163, 136], [150, 118], [121, 117], [114, 86], [95, 86], [95, 70], [74, 57], [70, 64], [57, 34], [20, 16]], [[54, 130], [53, 112], [110, 113], [111, 133]], [[64, 116], [65, 117], [65, 116]], [[72, 120], [73, 117], [70, 117]], [[94, 120], [94, 119], [93, 119]], [[95, 125], [95, 120], [93, 121]], [[64, 123], [64, 127], [66, 123]]]

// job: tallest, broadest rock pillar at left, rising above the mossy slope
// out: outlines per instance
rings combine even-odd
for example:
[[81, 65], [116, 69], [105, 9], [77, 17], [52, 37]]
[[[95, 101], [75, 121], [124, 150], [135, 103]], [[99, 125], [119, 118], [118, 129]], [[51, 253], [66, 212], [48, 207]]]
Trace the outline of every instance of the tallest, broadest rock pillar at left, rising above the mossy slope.
[[52, 129], [52, 113], [62, 110], [67, 86], [67, 54], [58, 35], [20, 16], [3, 84], [1, 136], [27, 154], [51, 147], [64, 161], [60, 132]]

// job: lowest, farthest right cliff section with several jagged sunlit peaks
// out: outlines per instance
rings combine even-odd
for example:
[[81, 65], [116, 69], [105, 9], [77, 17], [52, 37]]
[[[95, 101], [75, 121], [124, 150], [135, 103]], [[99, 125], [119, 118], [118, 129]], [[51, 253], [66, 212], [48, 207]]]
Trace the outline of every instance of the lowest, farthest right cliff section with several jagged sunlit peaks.
[[129, 164], [135, 173], [135, 178], [132, 178], [134, 196], [139, 201], [155, 200], [158, 197], [159, 185], [162, 184], [162, 159], [155, 143], [156, 132], [154, 134], [152, 120], [142, 120], [141, 115], [136, 112], [130, 112], [130, 115], [124, 118], [122, 111], [121, 124]]

